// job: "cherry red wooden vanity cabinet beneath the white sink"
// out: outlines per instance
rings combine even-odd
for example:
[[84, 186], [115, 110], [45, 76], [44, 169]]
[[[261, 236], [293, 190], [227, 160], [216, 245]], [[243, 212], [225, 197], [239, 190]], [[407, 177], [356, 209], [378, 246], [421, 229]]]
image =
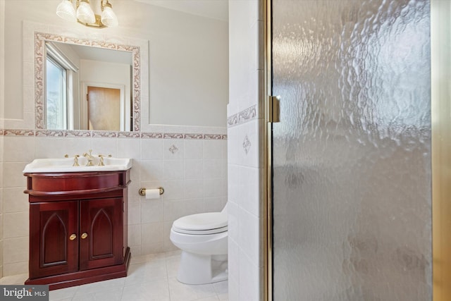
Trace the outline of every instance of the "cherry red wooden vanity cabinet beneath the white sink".
[[50, 290], [127, 276], [127, 171], [24, 173], [30, 202], [25, 284]]

